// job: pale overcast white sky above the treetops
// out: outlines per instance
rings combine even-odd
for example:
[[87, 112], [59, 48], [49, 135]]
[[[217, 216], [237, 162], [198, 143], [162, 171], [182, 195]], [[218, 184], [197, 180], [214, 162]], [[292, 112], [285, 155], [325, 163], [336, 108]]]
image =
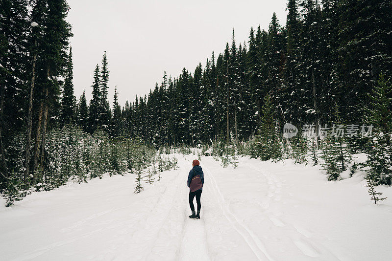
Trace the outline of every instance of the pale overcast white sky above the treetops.
[[178, 75], [205, 66], [215, 51], [247, 42], [250, 27], [268, 29], [272, 13], [286, 23], [287, 0], [68, 0], [73, 27], [74, 89], [91, 99], [95, 65], [109, 61], [109, 101], [114, 87], [121, 105], [161, 83], [164, 70]]

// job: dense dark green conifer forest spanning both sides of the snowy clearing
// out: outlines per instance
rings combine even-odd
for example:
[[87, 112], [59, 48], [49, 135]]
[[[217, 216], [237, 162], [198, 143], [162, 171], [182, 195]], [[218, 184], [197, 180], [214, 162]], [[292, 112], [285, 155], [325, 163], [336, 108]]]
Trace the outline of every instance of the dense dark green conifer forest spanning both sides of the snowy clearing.
[[[392, 2], [288, 0], [287, 9], [285, 24], [271, 14], [245, 43], [233, 29], [221, 52], [178, 76], [163, 72], [148, 94], [120, 105], [117, 89], [108, 97], [103, 50], [84, 90], [92, 99], [74, 96], [66, 0], [1, 0], [0, 192], [12, 204], [70, 177], [128, 169], [144, 180], [155, 150], [179, 147], [223, 163], [237, 153], [322, 158], [329, 180], [360, 167], [370, 184], [391, 185]], [[299, 135], [286, 139], [286, 123]], [[368, 161], [349, 166], [360, 152]]]

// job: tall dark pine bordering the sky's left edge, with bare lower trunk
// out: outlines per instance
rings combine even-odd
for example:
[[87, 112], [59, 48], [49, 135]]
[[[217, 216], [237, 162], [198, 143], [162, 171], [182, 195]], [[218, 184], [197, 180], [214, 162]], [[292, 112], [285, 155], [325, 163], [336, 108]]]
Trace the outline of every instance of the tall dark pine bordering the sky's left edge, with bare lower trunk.
[[[38, 3], [38, 2], [37, 2]], [[38, 128], [36, 130], [36, 139], [34, 144], [34, 167], [38, 164], [38, 156], [40, 156], [40, 168], [42, 174], [45, 174], [46, 163], [46, 142], [47, 130], [49, 125], [49, 113], [53, 113], [53, 109], [59, 108], [58, 100], [60, 94], [60, 83], [58, 79], [64, 76], [65, 67], [67, 65], [67, 53], [69, 38], [73, 36], [71, 25], [66, 21], [67, 14], [70, 10], [65, 0], [48, 0], [46, 4], [44, 33], [40, 39], [42, 53], [38, 55], [37, 60], [37, 83], [41, 84], [40, 102], [38, 109]], [[41, 128], [42, 123], [42, 128]], [[38, 147], [41, 137], [41, 152], [38, 155]], [[34, 183], [42, 180], [42, 175], [33, 176]]]

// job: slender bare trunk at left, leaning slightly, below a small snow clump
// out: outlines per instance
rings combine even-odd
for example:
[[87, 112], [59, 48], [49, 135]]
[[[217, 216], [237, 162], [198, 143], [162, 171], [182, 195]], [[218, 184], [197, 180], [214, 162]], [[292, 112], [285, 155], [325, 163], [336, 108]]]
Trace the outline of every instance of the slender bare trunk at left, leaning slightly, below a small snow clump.
[[[37, 48], [37, 40], [34, 41], [34, 46]], [[33, 70], [31, 77], [30, 96], [28, 99], [28, 116], [27, 116], [27, 130], [26, 130], [26, 153], [25, 153], [25, 180], [30, 172], [30, 154], [31, 154], [31, 129], [33, 119], [33, 95], [34, 95], [34, 84], [35, 84], [35, 63], [37, 61], [37, 52], [34, 51], [33, 56]]]

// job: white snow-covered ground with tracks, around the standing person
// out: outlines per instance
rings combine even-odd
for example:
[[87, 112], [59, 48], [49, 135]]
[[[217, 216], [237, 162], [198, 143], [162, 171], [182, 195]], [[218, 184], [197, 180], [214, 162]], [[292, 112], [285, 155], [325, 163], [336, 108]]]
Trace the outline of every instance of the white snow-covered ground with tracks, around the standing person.
[[[0, 204], [0, 259], [390, 260], [392, 189], [374, 205], [360, 174], [328, 182], [319, 167], [203, 157], [201, 218], [189, 219], [195, 156], [134, 194], [134, 176], [105, 176]], [[196, 202], [195, 202], [196, 203]]]

